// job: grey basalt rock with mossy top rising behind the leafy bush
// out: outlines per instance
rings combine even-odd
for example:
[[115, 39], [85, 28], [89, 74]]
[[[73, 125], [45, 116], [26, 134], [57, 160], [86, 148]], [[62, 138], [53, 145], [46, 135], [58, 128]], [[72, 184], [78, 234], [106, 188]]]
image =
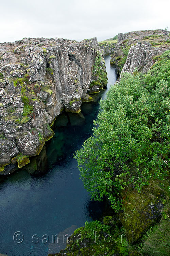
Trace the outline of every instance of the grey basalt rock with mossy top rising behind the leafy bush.
[[164, 29], [120, 33], [111, 64], [117, 65], [119, 73], [145, 73], [154, 64], [154, 56], [167, 49], [170, 49], [170, 33]]

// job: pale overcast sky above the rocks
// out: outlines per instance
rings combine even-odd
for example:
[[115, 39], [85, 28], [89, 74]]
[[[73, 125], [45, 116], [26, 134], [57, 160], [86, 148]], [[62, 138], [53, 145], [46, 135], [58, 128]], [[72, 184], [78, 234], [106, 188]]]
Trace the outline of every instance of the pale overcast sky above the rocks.
[[0, 42], [24, 37], [101, 41], [134, 30], [170, 30], [169, 0], [3, 0], [0, 10]]

